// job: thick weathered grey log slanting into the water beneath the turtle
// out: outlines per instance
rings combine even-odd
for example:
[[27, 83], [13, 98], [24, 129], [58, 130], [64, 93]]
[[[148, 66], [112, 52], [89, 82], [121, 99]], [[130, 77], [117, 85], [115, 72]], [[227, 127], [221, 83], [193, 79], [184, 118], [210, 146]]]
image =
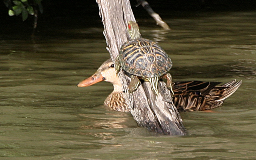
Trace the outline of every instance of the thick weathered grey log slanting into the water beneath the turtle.
[[[129, 21], [136, 21], [129, 0], [96, 0], [104, 25], [107, 50], [114, 61], [119, 48], [128, 40], [126, 26]], [[130, 94], [127, 84], [130, 78], [120, 72], [124, 98], [130, 108], [130, 113], [138, 126], [167, 135], [185, 135], [182, 119], [174, 106], [170, 91], [164, 82], [159, 82], [159, 95], [156, 97], [149, 82], [144, 82]]]

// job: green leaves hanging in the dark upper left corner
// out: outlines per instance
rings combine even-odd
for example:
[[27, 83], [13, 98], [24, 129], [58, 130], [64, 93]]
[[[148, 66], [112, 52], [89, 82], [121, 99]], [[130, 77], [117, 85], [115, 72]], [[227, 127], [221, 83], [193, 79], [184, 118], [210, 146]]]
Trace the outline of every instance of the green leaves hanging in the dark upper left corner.
[[39, 9], [39, 12], [43, 13], [42, 0], [4, 0], [9, 16], [22, 15], [22, 20], [25, 21], [28, 18], [28, 14], [34, 15], [35, 10]]

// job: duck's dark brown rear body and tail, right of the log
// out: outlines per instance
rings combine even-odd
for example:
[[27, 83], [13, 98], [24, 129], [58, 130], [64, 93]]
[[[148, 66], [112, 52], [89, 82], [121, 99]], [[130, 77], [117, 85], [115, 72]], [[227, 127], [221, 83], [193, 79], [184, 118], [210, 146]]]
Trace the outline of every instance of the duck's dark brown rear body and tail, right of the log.
[[233, 80], [221, 86], [219, 82], [178, 82], [175, 83], [173, 102], [179, 112], [211, 110], [222, 105], [242, 84]]

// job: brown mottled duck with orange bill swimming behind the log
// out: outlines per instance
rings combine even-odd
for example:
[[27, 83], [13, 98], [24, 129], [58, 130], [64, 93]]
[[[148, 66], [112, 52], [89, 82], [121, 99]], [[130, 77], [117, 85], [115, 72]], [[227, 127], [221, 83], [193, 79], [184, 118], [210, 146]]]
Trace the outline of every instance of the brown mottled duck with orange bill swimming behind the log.
[[[77, 87], [87, 87], [101, 81], [113, 84], [113, 91], [104, 101], [104, 106], [111, 110], [129, 112], [128, 105], [123, 98], [122, 84], [116, 74], [115, 64], [108, 59], [89, 78], [77, 84]], [[197, 80], [173, 82], [174, 95], [172, 101], [179, 112], [206, 111], [221, 106], [231, 96], [242, 81], [232, 80], [220, 86], [221, 82], [202, 82]]]

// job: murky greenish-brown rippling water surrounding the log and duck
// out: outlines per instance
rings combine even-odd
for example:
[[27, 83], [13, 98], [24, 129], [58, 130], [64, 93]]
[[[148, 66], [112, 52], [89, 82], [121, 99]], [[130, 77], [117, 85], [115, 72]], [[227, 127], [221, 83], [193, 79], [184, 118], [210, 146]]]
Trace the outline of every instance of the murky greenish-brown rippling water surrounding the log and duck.
[[[193, 13], [194, 14], [194, 13]], [[109, 58], [102, 28], [62, 29], [34, 40], [0, 39], [0, 156], [20, 160], [256, 158], [255, 12], [166, 19], [172, 31], [140, 24], [173, 61], [174, 80], [240, 88], [214, 112], [181, 113], [188, 135], [155, 135], [102, 104], [112, 85], [76, 84]], [[140, 23], [140, 20], [138, 20]], [[73, 38], [74, 35], [83, 36]], [[72, 36], [73, 35], [73, 36]], [[15, 39], [15, 40], [14, 40]]]

